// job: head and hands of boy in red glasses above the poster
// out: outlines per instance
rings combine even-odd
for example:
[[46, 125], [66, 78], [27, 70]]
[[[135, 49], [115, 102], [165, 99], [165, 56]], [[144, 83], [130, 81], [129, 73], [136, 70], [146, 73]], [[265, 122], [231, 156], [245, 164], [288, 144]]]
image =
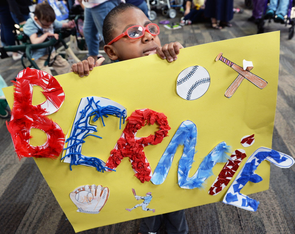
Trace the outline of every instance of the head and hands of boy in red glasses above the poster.
[[[158, 38], [158, 26], [145, 16], [145, 14], [136, 6], [132, 4], [121, 4], [116, 6], [104, 19], [103, 36], [105, 41], [104, 51], [111, 60], [124, 61], [132, 58], [139, 58], [150, 54], [158, 54], [160, 58], [167, 59], [172, 62], [177, 59], [179, 49], [183, 46], [179, 42], [171, 42], [161, 47], [160, 39]], [[125, 34], [131, 26], [141, 26], [140, 28], [131, 28], [129, 30], [130, 37]], [[148, 26], [146, 31], [143, 28]], [[132, 35], [132, 32], [137, 30], [138, 34]], [[147, 31], [150, 30], [150, 33]], [[153, 35], [152, 35], [152, 34]], [[113, 41], [116, 37], [120, 37]], [[122, 36], [122, 37], [121, 37]], [[87, 60], [74, 63], [71, 71], [79, 74], [81, 77], [88, 76], [94, 66], [100, 66], [104, 58], [94, 61], [93, 58], [88, 57]], [[96, 63], [94, 63], [96, 62]]]

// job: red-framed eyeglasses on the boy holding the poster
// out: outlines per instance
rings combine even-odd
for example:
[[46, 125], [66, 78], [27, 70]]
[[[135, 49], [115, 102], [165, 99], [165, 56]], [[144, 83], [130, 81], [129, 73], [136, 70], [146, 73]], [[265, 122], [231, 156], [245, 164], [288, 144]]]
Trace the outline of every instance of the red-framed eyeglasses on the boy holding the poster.
[[156, 36], [160, 33], [160, 28], [157, 24], [148, 24], [146, 27], [142, 27], [139, 25], [132, 26], [128, 28], [124, 33], [115, 37], [112, 41], [108, 43], [108, 45], [112, 44], [115, 41], [118, 41], [123, 36], [128, 36], [130, 39], [138, 39], [143, 37], [145, 31], [150, 33], [152, 36]]

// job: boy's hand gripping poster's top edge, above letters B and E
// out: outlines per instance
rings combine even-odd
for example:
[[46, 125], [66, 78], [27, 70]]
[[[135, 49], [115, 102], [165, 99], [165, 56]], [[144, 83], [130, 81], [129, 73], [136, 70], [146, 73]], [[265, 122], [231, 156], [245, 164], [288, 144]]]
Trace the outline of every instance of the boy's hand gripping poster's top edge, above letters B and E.
[[105, 58], [99, 58], [94, 64], [94, 58], [88, 57], [87, 60], [83, 60], [82, 62], [74, 63], [71, 66], [71, 71], [79, 74], [80, 77], [88, 76], [89, 71], [92, 71], [94, 67], [101, 66], [102, 62]]

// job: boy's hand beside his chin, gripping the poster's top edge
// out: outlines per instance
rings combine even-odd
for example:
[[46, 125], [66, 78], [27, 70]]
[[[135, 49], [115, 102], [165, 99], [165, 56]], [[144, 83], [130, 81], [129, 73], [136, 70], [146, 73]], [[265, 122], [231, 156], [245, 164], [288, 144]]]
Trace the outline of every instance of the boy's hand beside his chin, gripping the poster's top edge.
[[175, 61], [177, 59], [177, 54], [179, 54], [179, 49], [182, 49], [183, 46], [179, 42], [171, 42], [165, 44], [163, 47], [159, 46], [157, 48], [157, 54], [162, 59], [167, 59], [168, 62]]

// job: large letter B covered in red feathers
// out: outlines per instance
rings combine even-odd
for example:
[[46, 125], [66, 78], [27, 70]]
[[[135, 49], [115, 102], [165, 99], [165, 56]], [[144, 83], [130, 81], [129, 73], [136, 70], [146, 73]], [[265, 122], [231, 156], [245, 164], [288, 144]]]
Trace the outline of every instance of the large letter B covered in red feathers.
[[[63, 130], [46, 115], [58, 111], [65, 93], [58, 81], [48, 73], [37, 69], [26, 68], [14, 82], [14, 103], [12, 116], [6, 122], [12, 136], [15, 152], [19, 159], [23, 157], [57, 158], [63, 150], [65, 138]], [[32, 106], [33, 85], [43, 88], [47, 100]], [[47, 134], [47, 141], [42, 146], [29, 144], [31, 128], [38, 128]]]

